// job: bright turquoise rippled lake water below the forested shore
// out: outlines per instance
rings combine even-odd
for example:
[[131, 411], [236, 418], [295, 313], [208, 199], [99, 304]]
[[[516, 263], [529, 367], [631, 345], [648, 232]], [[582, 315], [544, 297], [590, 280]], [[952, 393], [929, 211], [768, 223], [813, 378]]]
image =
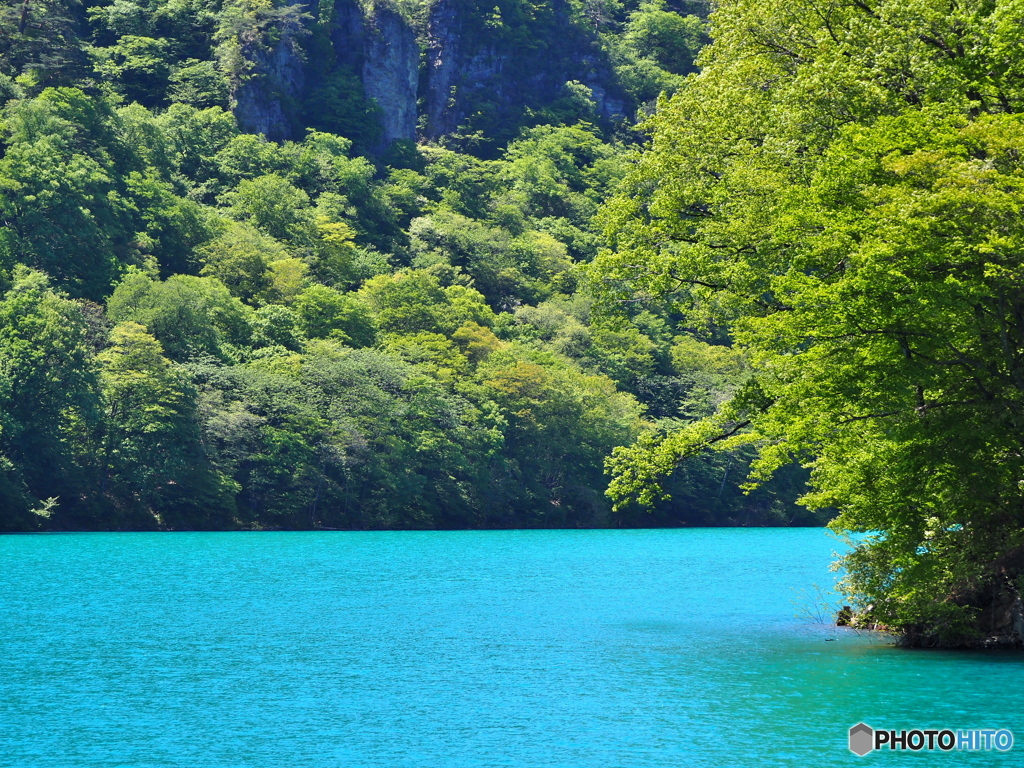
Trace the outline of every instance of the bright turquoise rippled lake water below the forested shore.
[[[1024, 766], [1024, 656], [795, 616], [838, 546], [811, 528], [0, 537], [0, 766]], [[857, 758], [858, 721], [1017, 745]]]

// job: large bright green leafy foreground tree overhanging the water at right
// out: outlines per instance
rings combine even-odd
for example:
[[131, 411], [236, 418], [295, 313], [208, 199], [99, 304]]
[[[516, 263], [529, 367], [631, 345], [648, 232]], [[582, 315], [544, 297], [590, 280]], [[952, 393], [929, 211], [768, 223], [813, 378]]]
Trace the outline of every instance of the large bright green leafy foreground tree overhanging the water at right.
[[706, 420], [616, 451], [611, 493], [650, 502], [706, 447], [755, 446], [755, 480], [798, 459], [804, 502], [861, 535], [843, 565], [863, 621], [972, 642], [1024, 586], [1024, 6], [712, 18], [593, 278], [726, 332], [751, 371]]

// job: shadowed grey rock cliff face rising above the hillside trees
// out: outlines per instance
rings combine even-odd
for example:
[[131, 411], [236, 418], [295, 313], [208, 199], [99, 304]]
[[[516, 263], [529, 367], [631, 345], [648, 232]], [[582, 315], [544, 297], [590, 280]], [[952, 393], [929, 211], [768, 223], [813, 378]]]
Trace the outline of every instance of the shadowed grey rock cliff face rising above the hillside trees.
[[[590, 88], [599, 119], [622, 119], [629, 105], [593, 35], [571, 24], [566, 0], [538, 7], [543, 13], [531, 27], [509, 27], [485, 20], [464, 0], [439, 0], [418, 35], [388, 5], [336, 0], [328, 54], [334, 60], [303, 56], [300, 40], [312, 16], [304, 30], [280, 31], [272, 44], [250, 46], [251, 77], [236, 89], [234, 113], [244, 130], [293, 138], [309, 84], [344, 67], [379, 108], [379, 150], [460, 129], [495, 133], [497, 127], [499, 138], [510, 138], [527, 110], [563, 97], [567, 81]], [[503, 129], [508, 136], [500, 135]]]

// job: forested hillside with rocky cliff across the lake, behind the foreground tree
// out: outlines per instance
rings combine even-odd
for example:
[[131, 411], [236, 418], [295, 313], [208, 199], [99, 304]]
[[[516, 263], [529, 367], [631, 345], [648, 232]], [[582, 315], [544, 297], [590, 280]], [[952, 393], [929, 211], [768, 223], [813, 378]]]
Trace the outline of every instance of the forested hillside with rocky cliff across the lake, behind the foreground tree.
[[693, 12], [5, 2], [0, 529], [816, 519], [744, 450], [603, 495], [748, 375], [585, 287]]

